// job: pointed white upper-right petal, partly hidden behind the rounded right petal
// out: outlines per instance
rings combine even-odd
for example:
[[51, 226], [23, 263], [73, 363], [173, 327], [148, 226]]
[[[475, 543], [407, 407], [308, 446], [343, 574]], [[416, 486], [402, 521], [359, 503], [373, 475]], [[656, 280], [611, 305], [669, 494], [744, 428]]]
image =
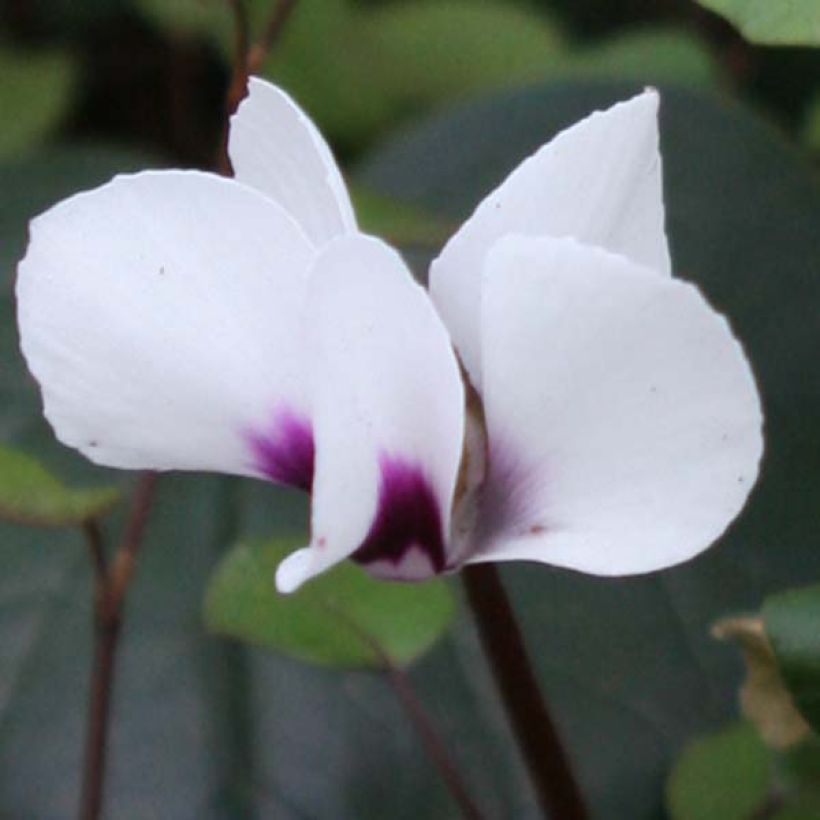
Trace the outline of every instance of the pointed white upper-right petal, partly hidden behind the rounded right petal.
[[650, 90], [562, 131], [481, 202], [433, 262], [433, 301], [476, 388], [482, 270], [505, 234], [573, 236], [670, 273], [657, 111]]

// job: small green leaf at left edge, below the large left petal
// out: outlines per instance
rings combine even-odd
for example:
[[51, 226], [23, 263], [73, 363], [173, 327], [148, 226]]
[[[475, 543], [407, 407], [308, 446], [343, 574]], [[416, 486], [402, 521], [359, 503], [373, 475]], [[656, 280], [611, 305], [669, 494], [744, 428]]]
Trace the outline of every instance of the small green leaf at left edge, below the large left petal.
[[74, 527], [102, 518], [120, 501], [113, 487], [66, 487], [39, 461], [0, 445], [0, 518], [32, 527]]

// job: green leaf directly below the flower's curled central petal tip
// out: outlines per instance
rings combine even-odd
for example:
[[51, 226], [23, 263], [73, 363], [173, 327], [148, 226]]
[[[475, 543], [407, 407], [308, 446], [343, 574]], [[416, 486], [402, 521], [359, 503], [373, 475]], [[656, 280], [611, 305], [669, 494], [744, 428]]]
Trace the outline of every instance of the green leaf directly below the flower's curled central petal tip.
[[443, 581], [390, 584], [345, 563], [292, 595], [273, 586], [276, 567], [304, 537], [241, 543], [222, 560], [205, 599], [212, 632], [328, 666], [407, 666], [453, 620]]

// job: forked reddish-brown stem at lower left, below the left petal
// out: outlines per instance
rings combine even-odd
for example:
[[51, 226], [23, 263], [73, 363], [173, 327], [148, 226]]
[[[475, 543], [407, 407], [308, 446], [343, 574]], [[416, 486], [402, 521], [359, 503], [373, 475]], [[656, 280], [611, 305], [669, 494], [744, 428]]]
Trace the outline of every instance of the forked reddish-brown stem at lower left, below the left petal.
[[81, 820], [98, 820], [102, 812], [111, 696], [123, 605], [145, 535], [156, 487], [156, 473], [144, 473], [134, 492], [123, 538], [109, 565], [96, 521], [83, 526], [94, 567], [94, 661], [88, 703]]

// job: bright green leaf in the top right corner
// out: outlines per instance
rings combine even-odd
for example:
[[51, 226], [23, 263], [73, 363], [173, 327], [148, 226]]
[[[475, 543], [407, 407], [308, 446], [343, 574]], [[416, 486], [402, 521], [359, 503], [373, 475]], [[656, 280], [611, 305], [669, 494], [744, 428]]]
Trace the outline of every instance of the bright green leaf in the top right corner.
[[778, 46], [820, 45], [817, 0], [698, 0], [737, 26], [753, 43]]

